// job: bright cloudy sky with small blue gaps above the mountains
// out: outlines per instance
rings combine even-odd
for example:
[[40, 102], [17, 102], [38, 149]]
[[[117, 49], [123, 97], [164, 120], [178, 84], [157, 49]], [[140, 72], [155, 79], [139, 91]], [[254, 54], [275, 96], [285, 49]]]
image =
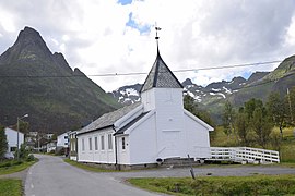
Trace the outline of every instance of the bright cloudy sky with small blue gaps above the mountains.
[[[86, 75], [149, 72], [160, 51], [170, 70], [283, 60], [295, 54], [294, 0], [0, 0], [0, 53], [25, 26]], [[175, 73], [206, 85], [278, 64]], [[146, 75], [91, 77], [106, 91]]]

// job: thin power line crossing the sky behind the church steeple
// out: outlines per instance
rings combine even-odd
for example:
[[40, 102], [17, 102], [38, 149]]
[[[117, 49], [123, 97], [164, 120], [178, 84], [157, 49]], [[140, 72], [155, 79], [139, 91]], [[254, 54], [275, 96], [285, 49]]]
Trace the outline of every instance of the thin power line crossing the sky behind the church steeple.
[[[286, 60], [285, 60], [286, 61]], [[282, 61], [266, 61], [266, 62], [256, 62], [256, 63], [245, 63], [245, 64], [233, 64], [233, 65], [223, 65], [223, 66], [210, 66], [210, 68], [200, 68], [200, 69], [185, 69], [185, 70], [174, 70], [175, 73], [181, 72], [197, 72], [204, 70], [222, 70], [222, 69], [233, 69], [233, 68], [245, 68], [245, 66], [259, 66], [266, 64], [280, 63]], [[10, 78], [10, 77], [20, 77], [20, 78], [64, 78], [64, 77], [109, 77], [109, 76], [131, 76], [131, 75], [145, 75], [146, 72], [129, 72], [129, 73], [105, 73], [105, 74], [91, 74], [91, 75], [0, 75], [0, 78]]]

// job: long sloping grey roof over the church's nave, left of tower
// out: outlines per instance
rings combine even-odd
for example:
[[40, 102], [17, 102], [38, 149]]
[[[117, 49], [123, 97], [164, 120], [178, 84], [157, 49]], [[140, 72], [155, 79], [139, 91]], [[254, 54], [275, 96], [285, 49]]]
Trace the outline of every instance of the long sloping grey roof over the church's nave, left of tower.
[[130, 111], [132, 111], [133, 109], [139, 107], [140, 105], [141, 105], [141, 102], [137, 102], [137, 103], [120, 108], [114, 112], [105, 113], [101, 118], [98, 118], [97, 120], [93, 121], [87, 126], [80, 130], [78, 132], [78, 134], [87, 133], [87, 132], [92, 132], [92, 131], [96, 131], [96, 130], [102, 130], [102, 128], [107, 127], [107, 126], [113, 126], [117, 120], [121, 119], [123, 115], [126, 115], [127, 113], [129, 113]]

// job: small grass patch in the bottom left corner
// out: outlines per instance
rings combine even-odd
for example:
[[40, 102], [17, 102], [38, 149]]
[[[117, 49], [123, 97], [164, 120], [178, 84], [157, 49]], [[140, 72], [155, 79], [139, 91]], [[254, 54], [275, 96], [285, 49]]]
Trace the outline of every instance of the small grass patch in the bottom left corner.
[[1, 196], [21, 196], [22, 181], [17, 179], [0, 179]]

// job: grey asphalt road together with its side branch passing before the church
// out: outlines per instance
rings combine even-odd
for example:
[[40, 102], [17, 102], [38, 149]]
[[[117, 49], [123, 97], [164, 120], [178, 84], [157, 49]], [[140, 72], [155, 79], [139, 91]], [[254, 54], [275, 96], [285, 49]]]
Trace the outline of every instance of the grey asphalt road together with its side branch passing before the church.
[[[128, 177], [190, 176], [188, 168], [163, 168], [131, 172], [88, 172], [72, 167], [60, 157], [36, 155], [39, 161], [30, 168], [26, 196], [145, 196], [156, 195], [123, 183]], [[196, 176], [246, 176], [256, 174], [295, 174], [294, 168], [280, 166], [197, 167]]]

